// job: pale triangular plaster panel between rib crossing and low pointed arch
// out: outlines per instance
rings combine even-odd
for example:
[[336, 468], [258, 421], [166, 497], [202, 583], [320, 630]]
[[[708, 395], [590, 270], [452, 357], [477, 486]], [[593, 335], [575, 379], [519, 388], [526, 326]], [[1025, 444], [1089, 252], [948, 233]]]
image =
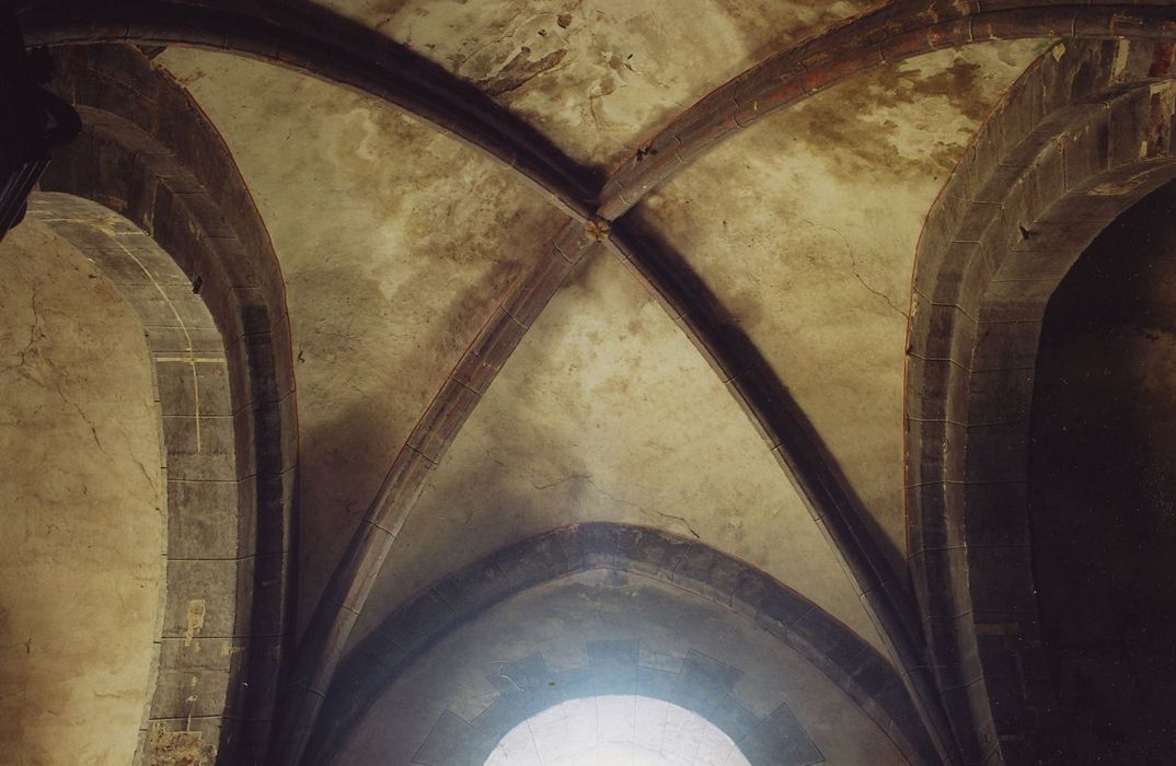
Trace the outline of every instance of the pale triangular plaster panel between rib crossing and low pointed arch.
[[356, 633], [460, 566], [586, 520], [701, 537], [878, 644], [764, 442], [664, 310], [602, 250], [548, 304], [430, 478]]

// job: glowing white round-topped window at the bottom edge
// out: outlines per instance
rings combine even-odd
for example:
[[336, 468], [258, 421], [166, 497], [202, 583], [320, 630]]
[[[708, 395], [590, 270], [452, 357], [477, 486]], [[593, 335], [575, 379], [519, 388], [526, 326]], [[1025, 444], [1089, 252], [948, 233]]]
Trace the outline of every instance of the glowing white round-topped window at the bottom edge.
[[750, 766], [717, 726], [660, 699], [588, 697], [515, 726], [486, 766]]

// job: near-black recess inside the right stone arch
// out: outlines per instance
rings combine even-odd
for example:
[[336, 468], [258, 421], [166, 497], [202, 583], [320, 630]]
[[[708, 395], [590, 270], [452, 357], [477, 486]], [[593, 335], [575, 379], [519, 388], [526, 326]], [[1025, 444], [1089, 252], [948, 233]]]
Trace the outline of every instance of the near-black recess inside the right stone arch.
[[1176, 184], [1095, 240], [1050, 301], [1033, 404], [1033, 555], [1061, 731], [1049, 762], [1176, 744]]

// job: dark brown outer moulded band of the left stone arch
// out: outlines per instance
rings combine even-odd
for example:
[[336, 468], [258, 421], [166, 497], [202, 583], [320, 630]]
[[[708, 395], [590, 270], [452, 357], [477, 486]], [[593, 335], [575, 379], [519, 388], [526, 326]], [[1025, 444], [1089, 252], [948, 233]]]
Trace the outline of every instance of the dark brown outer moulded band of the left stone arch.
[[[189, 705], [171, 711], [179, 715], [165, 717], [161, 708], [153, 718], [160, 719], [165, 732], [202, 730], [205, 741], [216, 743], [218, 762], [260, 761], [293, 641], [298, 423], [289, 321], [276, 256], [220, 136], [187, 94], [151, 67], [146, 56], [126, 46], [76, 47], [59, 52], [56, 63], [53, 87], [78, 108], [83, 130], [55, 153], [41, 189], [89, 200], [125, 216], [174, 258], [171, 266], [180, 276], [172, 287], [206, 308], [214, 327], [203, 328], [211, 331], [195, 345], [176, 345], [175, 334], [160, 328], [149, 336], [155, 351], [174, 347], [172, 352], [194, 355], [205, 350], [196, 348], [201, 344], [220, 344], [226, 360], [229, 411], [216, 418], [219, 435], [212, 430], [203, 435], [226, 448], [226, 461], [234, 466], [232, 479], [239, 484], [242, 545], [230, 557], [239, 571], [234, 614], [225, 636], [230, 661], [201, 667], [176, 657], [173, 667], [191, 671], [189, 677], [220, 674], [220, 680], [209, 683], [225, 691], [201, 701], [211, 705], [206, 714], [193, 715]], [[174, 128], [180, 125], [187, 141], [178, 140]], [[165, 441], [169, 438], [165, 428]], [[171, 438], [169, 444], [179, 442]], [[189, 468], [200, 478], [208, 466], [199, 453], [189, 457], [198, 458], [189, 459]], [[169, 455], [169, 465], [174, 462]], [[214, 579], [223, 584], [223, 577]], [[191, 591], [199, 584], [194, 576], [182, 587]], [[176, 707], [176, 700], [168, 705]], [[148, 748], [143, 762], [151, 758]]]

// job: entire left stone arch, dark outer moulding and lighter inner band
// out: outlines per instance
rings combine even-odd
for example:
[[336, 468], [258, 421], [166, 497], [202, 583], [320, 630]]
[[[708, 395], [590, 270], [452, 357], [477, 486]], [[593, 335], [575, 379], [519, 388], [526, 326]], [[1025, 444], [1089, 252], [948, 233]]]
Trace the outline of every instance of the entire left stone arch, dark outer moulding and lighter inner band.
[[[260, 762], [293, 640], [298, 426], [276, 257], [182, 88], [122, 46], [71, 49], [58, 69], [83, 130], [55, 153], [31, 215], [139, 311], [163, 412], [167, 606], [142, 762]], [[169, 260], [136, 256], [152, 240]]]

